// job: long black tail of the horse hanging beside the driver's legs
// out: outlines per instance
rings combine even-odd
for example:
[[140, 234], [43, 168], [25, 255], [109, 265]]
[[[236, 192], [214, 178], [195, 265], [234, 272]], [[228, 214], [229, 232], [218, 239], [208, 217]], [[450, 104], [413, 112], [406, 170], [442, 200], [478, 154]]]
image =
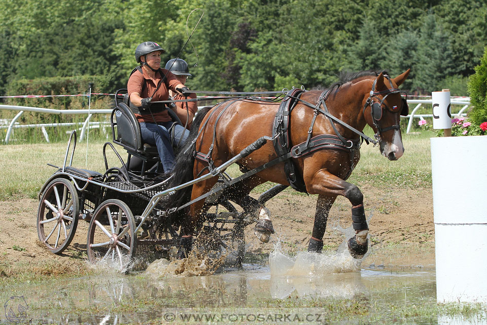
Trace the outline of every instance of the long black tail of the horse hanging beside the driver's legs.
[[[198, 135], [199, 127], [204, 116], [212, 109], [212, 107], [204, 107], [198, 111], [191, 126], [188, 139], [183, 147], [179, 150], [174, 160], [175, 168], [172, 171], [172, 181], [170, 187], [178, 186], [193, 180], [193, 165], [195, 145], [192, 141]], [[191, 199], [191, 191], [193, 186], [187, 186], [178, 190], [172, 195], [170, 202], [167, 203], [167, 208], [176, 208], [183, 203], [189, 202]]]

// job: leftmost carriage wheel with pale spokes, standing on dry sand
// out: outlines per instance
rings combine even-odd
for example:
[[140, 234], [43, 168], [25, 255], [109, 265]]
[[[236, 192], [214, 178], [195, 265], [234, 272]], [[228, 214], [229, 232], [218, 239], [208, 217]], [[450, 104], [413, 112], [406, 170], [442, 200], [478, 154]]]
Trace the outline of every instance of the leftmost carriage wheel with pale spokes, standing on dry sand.
[[37, 234], [53, 253], [60, 254], [73, 240], [79, 208], [78, 192], [67, 179], [56, 178], [47, 185], [39, 202]]

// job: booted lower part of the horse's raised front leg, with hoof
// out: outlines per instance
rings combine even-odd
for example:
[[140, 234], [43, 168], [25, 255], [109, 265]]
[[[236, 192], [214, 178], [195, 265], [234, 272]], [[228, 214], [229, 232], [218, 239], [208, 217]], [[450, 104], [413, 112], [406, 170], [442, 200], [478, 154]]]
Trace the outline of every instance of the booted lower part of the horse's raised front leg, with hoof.
[[355, 236], [349, 239], [349, 251], [354, 258], [362, 258], [368, 250], [369, 233], [363, 204], [352, 207], [352, 226]]

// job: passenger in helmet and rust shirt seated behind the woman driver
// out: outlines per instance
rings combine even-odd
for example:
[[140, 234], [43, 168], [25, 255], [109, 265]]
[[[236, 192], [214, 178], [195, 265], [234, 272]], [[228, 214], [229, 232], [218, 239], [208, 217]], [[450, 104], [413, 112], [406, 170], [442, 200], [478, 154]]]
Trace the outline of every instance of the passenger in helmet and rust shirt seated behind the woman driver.
[[[165, 69], [172, 72], [176, 78], [181, 81], [183, 85], [186, 85], [186, 80], [188, 76], [191, 76], [189, 73], [188, 63], [185, 60], [180, 58], [170, 59], [167, 61]], [[178, 101], [186, 99], [185, 96], [180, 95], [177, 92], [173, 92], [169, 90], [169, 95], [171, 99]], [[195, 93], [191, 93], [187, 98], [196, 98]], [[188, 125], [187, 127], [191, 127], [191, 123], [193, 122], [194, 114], [198, 111], [198, 106], [196, 102], [177, 102], [175, 103], [176, 107], [174, 108], [176, 114], [178, 115], [179, 119], [183, 123], [183, 125]]]

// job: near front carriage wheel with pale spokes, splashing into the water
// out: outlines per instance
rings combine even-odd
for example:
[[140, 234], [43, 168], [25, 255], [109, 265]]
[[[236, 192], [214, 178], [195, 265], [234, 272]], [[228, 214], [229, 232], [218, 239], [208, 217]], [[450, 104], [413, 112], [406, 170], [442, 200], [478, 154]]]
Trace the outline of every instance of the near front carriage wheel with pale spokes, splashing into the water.
[[122, 201], [102, 202], [91, 218], [86, 244], [91, 263], [106, 261], [120, 271], [130, 267], [135, 255], [135, 220]]

